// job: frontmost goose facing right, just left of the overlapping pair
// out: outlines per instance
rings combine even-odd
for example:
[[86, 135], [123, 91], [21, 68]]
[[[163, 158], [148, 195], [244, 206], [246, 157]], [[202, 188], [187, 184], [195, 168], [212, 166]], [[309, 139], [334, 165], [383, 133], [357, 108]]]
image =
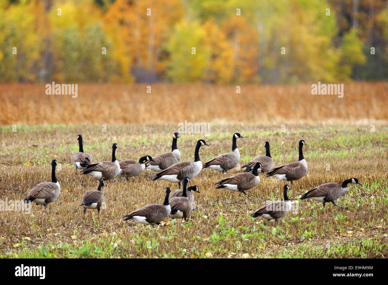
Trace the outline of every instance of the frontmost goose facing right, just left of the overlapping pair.
[[138, 223], [145, 225], [159, 225], [161, 221], [166, 219], [171, 212], [170, 204], [168, 203], [168, 196], [170, 195], [170, 187], [166, 188], [166, 197], [163, 205], [149, 204], [132, 213], [125, 215], [123, 221], [134, 219]]

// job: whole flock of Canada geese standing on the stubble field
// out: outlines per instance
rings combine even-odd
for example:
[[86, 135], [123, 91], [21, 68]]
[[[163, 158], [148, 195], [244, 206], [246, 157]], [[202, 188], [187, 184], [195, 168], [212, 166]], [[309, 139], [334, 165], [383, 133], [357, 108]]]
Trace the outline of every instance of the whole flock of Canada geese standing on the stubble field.
[[[228, 170], [235, 168], [240, 161], [237, 138], [244, 137], [239, 133], [234, 133], [232, 136], [232, 152], [218, 155], [204, 164], [202, 164], [199, 158], [199, 149], [209, 144], [204, 140], [198, 140], [194, 150], [194, 161], [180, 161], [180, 151], [177, 147], [177, 139], [179, 137], [180, 135], [178, 133], [173, 133], [171, 152], [152, 157], [145, 155], [140, 157], [139, 161], [132, 159], [118, 161], [116, 159], [116, 149], [118, 146], [117, 143], [113, 143], [112, 160], [92, 164], [91, 155], [83, 151], [82, 136], [78, 135], [79, 151], [73, 155], [72, 161], [75, 172], [77, 173], [77, 169], [82, 169], [81, 175], [88, 175], [99, 181], [97, 190], [90, 190], [83, 196], [82, 204], [80, 205], [83, 206], [83, 215], [85, 215], [87, 209], [97, 209], [98, 214], [100, 214], [100, 208], [104, 203], [104, 194], [101, 191], [102, 187], [104, 187], [104, 181], [113, 180], [117, 176], [119, 176], [120, 180], [121, 176], [124, 176], [128, 181], [128, 178], [139, 175], [145, 169], [149, 169], [151, 171], [157, 171], [152, 176], [152, 181], [166, 180], [172, 183], [178, 183], [179, 188], [180, 183], [182, 183], [183, 189], [173, 192], [170, 196], [170, 187], [166, 187], [163, 204], [149, 204], [141, 207], [125, 215], [123, 217], [124, 220], [133, 219], [138, 223], [152, 226], [160, 224], [168, 216], [175, 219], [183, 218], [185, 221], [188, 220], [191, 211], [197, 209], [192, 192], [200, 193], [196, 185], [187, 188], [189, 181], [196, 177], [203, 168], [210, 168], [224, 174]], [[298, 161], [272, 169], [274, 161], [270, 154], [270, 145], [269, 142], [265, 142], [265, 156], [255, 157], [252, 161], [242, 166], [241, 168], [246, 168], [244, 172], [234, 174], [229, 178], [215, 183], [215, 185], [218, 185], [216, 189], [225, 188], [230, 191], [239, 192], [240, 195], [241, 193], [248, 195], [245, 191], [260, 183], [259, 173], [265, 173], [265, 177], [275, 177], [278, 180], [284, 180], [292, 184], [293, 181], [303, 178], [307, 173], [307, 162], [303, 157], [303, 145], [305, 144], [304, 140], [300, 140]], [[52, 160], [51, 182], [42, 182], [36, 185], [28, 192], [24, 200], [25, 203], [35, 202], [36, 204], [47, 207], [47, 204], [57, 199], [61, 192], [61, 187], [55, 176], [56, 165], [57, 161], [55, 159]], [[349, 183], [361, 185], [357, 178], [344, 180], [341, 185], [331, 182], [324, 183], [308, 191], [300, 199], [317, 200], [323, 203], [323, 207], [327, 202], [342, 207], [336, 204], [336, 200], [348, 192], [347, 185]], [[251, 214], [251, 216], [254, 218], [261, 216], [267, 220], [274, 219], [276, 225], [277, 220], [284, 217], [291, 210], [291, 201], [287, 195], [289, 189], [288, 184], [285, 184], [283, 187], [284, 200], [270, 201]]]

